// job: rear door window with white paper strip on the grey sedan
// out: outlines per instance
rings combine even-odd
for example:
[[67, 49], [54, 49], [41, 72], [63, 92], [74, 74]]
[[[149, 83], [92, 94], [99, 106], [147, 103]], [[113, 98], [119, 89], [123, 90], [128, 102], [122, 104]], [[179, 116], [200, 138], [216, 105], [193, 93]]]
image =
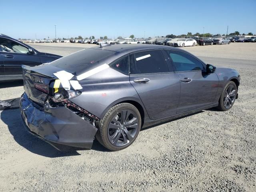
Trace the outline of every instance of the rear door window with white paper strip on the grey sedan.
[[130, 74], [169, 72], [161, 51], [146, 51], [130, 55]]

